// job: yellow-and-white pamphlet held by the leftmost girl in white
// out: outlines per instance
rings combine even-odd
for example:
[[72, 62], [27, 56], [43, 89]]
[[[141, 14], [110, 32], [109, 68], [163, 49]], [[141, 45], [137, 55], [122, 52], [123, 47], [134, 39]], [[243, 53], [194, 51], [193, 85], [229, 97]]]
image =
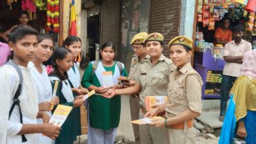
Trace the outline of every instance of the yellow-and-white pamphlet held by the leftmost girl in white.
[[55, 109], [53, 116], [49, 120], [49, 123], [52, 123], [54, 126], [61, 127], [64, 124], [66, 118], [70, 114], [72, 107], [66, 105], [58, 105]]

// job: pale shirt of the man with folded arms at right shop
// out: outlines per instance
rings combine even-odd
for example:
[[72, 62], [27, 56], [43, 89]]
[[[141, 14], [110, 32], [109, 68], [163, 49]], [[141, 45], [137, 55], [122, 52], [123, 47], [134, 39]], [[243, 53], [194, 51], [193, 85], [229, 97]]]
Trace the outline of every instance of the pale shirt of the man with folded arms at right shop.
[[[242, 41], [236, 45], [234, 41], [230, 41], [224, 47], [224, 55], [223, 56], [244, 56], [245, 52], [252, 50], [251, 43]], [[226, 62], [223, 75], [228, 75], [232, 77], [238, 77], [240, 75], [240, 69], [242, 68], [242, 64], [240, 63], [229, 63]]]

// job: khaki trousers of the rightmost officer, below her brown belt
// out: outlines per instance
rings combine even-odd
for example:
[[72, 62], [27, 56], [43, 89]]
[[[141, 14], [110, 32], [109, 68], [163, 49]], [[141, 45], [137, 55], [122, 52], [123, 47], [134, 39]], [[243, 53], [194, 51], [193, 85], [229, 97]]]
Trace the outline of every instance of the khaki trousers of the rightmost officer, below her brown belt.
[[192, 128], [177, 130], [165, 128], [165, 144], [196, 144], [196, 132]]

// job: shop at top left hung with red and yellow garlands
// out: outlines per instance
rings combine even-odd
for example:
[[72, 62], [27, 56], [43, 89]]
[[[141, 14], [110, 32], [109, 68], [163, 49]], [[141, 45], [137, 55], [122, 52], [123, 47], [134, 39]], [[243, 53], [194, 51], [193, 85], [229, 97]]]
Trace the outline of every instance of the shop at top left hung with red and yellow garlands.
[[18, 16], [22, 10], [27, 11], [30, 21], [28, 26], [37, 29], [40, 33], [51, 33], [58, 45], [60, 31], [59, 1], [1, 1], [0, 24], [3, 31], [19, 24]]

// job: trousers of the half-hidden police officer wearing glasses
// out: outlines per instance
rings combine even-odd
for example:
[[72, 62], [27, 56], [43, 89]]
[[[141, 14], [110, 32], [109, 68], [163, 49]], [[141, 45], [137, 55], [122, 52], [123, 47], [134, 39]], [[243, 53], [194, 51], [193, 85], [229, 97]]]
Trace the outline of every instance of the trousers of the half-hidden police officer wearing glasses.
[[[130, 111], [131, 111], [131, 120], [139, 119], [139, 111], [140, 111], [140, 99], [130, 96]], [[135, 143], [140, 144], [140, 133], [139, 133], [139, 125], [133, 124], [133, 134], [135, 137]]]

